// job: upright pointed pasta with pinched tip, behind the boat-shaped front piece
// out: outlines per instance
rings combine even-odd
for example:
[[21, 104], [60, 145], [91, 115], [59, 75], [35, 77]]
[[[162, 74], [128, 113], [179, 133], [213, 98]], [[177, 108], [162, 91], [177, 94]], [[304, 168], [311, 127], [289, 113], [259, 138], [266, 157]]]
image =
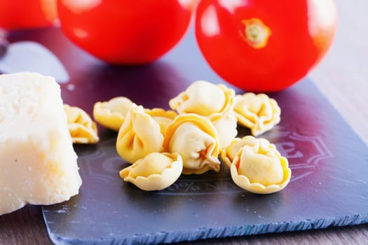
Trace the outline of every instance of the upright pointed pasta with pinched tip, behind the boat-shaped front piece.
[[144, 112], [142, 106], [130, 104], [123, 125], [118, 131], [116, 151], [133, 163], [149, 153], [163, 151], [163, 134], [158, 123]]

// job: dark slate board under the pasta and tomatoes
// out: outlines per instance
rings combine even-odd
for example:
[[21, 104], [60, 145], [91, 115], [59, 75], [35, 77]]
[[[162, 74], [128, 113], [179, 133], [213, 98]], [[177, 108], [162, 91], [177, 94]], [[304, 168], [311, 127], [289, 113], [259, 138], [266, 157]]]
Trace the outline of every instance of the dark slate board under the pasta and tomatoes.
[[[168, 109], [168, 99], [194, 80], [224, 83], [205, 64], [192, 32], [158, 62], [133, 67], [90, 57], [59, 29], [10, 38], [33, 39], [53, 50], [71, 77], [62, 85], [64, 102], [88, 113], [96, 101], [119, 95]], [[116, 132], [100, 127], [99, 144], [75, 146], [80, 194], [43, 207], [50, 239], [55, 244], [158, 244], [368, 223], [367, 146], [310, 80], [269, 95], [280, 104], [282, 120], [261, 137], [276, 144], [292, 169], [292, 180], [280, 193], [247, 193], [225, 166], [219, 174], [181, 176], [170, 188], [144, 192], [120, 179], [118, 171], [128, 164], [116, 153]]]

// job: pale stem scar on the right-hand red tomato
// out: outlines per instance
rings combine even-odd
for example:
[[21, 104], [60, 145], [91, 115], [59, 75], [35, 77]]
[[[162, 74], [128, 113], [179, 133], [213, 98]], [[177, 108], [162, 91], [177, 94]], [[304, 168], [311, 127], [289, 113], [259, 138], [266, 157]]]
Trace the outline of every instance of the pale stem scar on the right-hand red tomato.
[[271, 30], [264, 25], [264, 22], [258, 18], [242, 20], [244, 29], [240, 31], [240, 36], [252, 46], [252, 48], [264, 48], [267, 45], [268, 38], [271, 36]]

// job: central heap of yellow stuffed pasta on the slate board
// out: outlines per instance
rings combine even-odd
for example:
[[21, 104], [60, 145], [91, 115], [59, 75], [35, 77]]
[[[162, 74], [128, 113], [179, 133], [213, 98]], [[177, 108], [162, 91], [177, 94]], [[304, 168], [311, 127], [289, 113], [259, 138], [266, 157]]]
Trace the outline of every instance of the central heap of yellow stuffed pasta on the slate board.
[[[252, 193], [275, 193], [289, 183], [287, 159], [274, 144], [257, 138], [280, 122], [274, 99], [198, 80], [169, 106], [146, 109], [127, 97], [95, 103], [95, 121], [118, 132], [116, 151], [131, 164], [119, 172], [124, 181], [163, 190], [181, 174], [219, 172], [224, 162], [234, 183]], [[252, 135], [237, 137], [238, 125]]]

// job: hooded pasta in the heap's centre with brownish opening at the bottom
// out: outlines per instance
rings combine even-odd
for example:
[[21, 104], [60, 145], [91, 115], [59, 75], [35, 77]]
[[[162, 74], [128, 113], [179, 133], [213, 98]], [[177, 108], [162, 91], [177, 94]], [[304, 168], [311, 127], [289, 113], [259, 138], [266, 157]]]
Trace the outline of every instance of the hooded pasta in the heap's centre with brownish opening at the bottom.
[[195, 113], [177, 116], [166, 129], [163, 146], [165, 152], [182, 155], [183, 174], [219, 172], [217, 130], [208, 118]]

